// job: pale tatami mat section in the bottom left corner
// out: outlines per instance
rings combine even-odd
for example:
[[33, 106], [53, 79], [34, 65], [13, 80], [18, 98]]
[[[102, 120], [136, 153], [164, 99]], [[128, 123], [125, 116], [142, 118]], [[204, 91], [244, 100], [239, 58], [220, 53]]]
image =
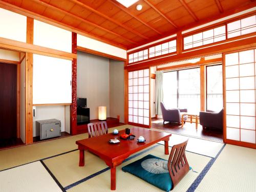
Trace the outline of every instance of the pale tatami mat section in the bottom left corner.
[[0, 191], [58, 192], [61, 189], [45, 167], [36, 161], [0, 172]]

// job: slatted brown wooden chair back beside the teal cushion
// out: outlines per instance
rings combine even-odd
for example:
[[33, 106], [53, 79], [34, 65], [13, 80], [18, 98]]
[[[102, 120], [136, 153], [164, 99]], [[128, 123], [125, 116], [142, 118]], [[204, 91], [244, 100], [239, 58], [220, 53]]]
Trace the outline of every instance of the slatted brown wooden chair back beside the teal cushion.
[[[188, 173], [189, 165], [187, 162], [185, 150], [187, 141], [174, 145], [168, 159], [168, 170], [170, 178], [173, 181], [173, 188], [181, 181], [181, 179]], [[172, 189], [173, 189], [172, 188]]]

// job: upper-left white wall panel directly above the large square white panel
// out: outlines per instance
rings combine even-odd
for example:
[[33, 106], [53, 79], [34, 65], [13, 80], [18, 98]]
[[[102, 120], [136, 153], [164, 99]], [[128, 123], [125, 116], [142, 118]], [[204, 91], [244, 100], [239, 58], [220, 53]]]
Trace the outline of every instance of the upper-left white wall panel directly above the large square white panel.
[[34, 20], [34, 45], [72, 52], [72, 32]]

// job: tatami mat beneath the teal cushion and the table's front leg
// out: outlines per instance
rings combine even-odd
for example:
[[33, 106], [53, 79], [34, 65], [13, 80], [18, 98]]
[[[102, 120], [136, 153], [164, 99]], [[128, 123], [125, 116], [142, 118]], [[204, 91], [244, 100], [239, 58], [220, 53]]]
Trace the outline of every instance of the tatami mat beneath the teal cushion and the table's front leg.
[[[171, 148], [169, 148], [171, 150]], [[129, 174], [124, 173], [121, 170], [121, 167], [124, 165], [127, 165], [131, 162], [134, 162], [147, 154], [152, 154], [164, 159], [168, 159], [169, 155], [164, 155], [164, 146], [158, 145], [157, 147], [154, 147], [152, 150], [135, 157], [129, 161], [124, 162], [123, 164], [119, 165], [116, 169], [116, 191], [162, 191], [161, 189]], [[194, 182], [194, 180], [197, 178], [199, 173], [203, 170], [204, 166], [209, 162], [210, 158], [201, 156], [194, 153], [186, 152], [186, 156], [189, 162], [189, 165], [194, 168], [198, 173], [192, 172], [192, 170], [189, 171], [189, 173], [184, 177], [184, 179], [176, 186], [176, 188], [173, 191], [186, 191], [188, 187]], [[90, 162], [88, 162], [88, 165], [90, 165]], [[92, 178], [88, 181], [82, 182], [81, 184], [67, 190], [69, 192], [73, 191], [111, 191], [110, 190], [110, 170]]]

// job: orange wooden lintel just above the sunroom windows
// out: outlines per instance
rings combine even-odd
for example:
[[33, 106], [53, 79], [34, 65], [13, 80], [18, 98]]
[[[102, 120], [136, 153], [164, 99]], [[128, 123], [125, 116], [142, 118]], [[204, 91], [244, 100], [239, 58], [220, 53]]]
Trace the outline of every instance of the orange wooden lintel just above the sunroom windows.
[[190, 67], [198, 67], [198, 66], [204, 66], [204, 65], [212, 65], [215, 63], [222, 62], [222, 58], [216, 58], [216, 59], [209, 59], [209, 60], [200, 60], [196, 63], [184, 63], [176, 66], [168, 66], [164, 68], [157, 68], [157, 71], [167, 71], [167, 70], [177, 70], [177, 69], [184, 69], [184, 68], [190, 68]]

